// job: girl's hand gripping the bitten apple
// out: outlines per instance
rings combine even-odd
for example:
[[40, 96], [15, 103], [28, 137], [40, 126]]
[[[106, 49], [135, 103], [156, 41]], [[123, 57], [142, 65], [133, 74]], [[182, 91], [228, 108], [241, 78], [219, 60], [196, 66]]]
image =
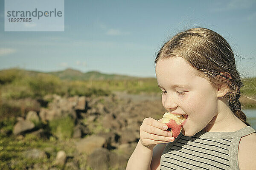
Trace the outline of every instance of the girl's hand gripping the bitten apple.
[[[162, 118], [163, 119], [163, 118]], [[172, 132], [167, 131], [166, 124], [160, 120], [155, 120], [151, 117], [145, 118], [140, 126], [141, 143], [150, 149], [156, 144], [173, 142]]]

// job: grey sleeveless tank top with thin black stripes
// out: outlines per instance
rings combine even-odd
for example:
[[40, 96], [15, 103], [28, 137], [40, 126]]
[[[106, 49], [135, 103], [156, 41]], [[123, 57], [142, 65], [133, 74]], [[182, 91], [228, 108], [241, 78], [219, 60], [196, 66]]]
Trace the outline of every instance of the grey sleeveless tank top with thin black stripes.
[[255, 132], [247, 126], [235, 132], [200, 131], [190, 137], [180, 133], [163, 150], [160, 170], [239, 170], [240, 139]]

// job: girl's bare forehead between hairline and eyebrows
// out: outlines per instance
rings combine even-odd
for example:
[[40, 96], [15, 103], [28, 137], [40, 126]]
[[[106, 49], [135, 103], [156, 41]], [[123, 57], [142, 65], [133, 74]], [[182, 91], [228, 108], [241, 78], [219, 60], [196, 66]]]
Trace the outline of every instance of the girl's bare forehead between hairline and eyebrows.
[[157, 83], [160, 86], [171, 84], [193, 84], [198, 71], [192, 68], [182, 57], [160, 59], [156, 64]]

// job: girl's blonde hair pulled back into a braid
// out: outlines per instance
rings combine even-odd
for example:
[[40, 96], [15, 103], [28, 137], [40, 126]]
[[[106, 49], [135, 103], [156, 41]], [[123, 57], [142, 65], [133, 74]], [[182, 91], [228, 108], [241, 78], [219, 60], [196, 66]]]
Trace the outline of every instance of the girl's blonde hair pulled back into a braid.
[[157, 54], [154, 64], [160, 59], [182, 57], [199, 75], [209, 80], [212, 86], [227, 85], [227, 98], [231, 111], [246, 125], [246, 115], [239, 101], [243, 86], [232, 49], [218, 33], [207, 28], [191, 28], [182, 31], [166, 42]]

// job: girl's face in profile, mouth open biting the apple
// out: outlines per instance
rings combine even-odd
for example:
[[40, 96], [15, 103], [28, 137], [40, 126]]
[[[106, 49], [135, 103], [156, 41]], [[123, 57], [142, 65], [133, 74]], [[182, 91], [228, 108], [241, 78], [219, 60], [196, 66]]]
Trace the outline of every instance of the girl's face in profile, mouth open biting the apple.
[[160, 59], [156, 65], [163, 107], [170, 113], [188, 115], [182, 128], [185, 136], [203, 130], [218, 112], [217, 89], [196, 72], [182, 57]]

